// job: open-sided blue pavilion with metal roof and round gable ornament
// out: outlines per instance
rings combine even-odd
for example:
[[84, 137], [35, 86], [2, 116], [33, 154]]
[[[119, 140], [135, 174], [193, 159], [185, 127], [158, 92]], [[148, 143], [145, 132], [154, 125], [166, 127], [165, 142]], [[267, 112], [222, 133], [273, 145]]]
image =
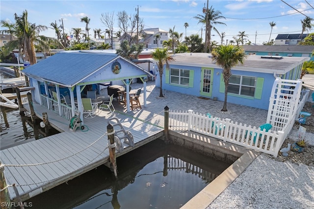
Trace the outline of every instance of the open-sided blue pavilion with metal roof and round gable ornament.
[[[81, 104], [81, 92], [86, 86], [122, 82], [125, 83], [126, 92], [129, 94], [131, 80], [140, 78], [143, 81], [144, 92], [146, 92], [146, 78], [153, 76], [118, 54], [101, 51], [58, 52], [27, 67], [23, 72], [29, 78], [30, 85], [35, 87], [32, 90], [33, 101], [68, 119], [75, 115], [75, 100], [77, 104]], [[51, 89], [57, 93], [58, 108], [52, 106]], [[70, 105], [61, 104], [61, 93], [70, 96]], [[128, 97], [129, 95], [127, 95]], [[78, 111], [82, 112], [81, 105], [78, 105]], [[130, 104], [128, 104], [128, 111], [130, 111]], [[82, 114], [81, 120], [83, 121]]]

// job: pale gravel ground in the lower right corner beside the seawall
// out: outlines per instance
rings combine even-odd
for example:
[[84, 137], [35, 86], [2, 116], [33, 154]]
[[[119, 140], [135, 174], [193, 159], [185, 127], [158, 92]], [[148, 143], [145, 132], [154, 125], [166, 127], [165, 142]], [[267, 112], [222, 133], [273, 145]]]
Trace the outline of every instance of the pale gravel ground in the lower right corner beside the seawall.
[[[312, 100], [312, 98], [311, 98]], [[310, 99], [308, 100], [310, 101]], [[313, 103], [303, 111], [314, 116]], [[261, 154], [207, 209], [314, 209], [314, 117], [307, 119], [307, 147], [303, 153], [281, 153], [277, 158]], [[282, 148], [298, 139], [299, 124]]]

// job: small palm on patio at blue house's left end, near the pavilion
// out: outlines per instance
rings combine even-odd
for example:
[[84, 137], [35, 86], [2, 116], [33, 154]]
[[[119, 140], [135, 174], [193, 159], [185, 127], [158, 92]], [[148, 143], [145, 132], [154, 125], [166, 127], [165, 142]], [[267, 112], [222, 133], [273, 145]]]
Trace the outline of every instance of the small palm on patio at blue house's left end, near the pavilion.
[[168, 54], [167, 48], [157, 48], [152, 52], [152, 56], [155, 60], [157, 60], [157, 67], [159, 71], [159, 77], [160, 77], [160, 91], [159, 91], [159, 97], [163, 97], [162, 94], [162, 74], [163, 74], [163, 66], [166, 64], [166, 68], [169, 68], [169, 61], [174, 60], [172, 56]]

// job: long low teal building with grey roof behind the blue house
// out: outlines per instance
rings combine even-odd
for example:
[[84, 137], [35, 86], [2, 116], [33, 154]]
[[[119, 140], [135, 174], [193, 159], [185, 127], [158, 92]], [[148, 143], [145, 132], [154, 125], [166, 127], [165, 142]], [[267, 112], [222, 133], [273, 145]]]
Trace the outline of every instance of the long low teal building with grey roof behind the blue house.
[[312, 57], [314, 46], [303, 45], [243, 45], [243, 50], [249, 55], [271, 55], [271, 56], [296, 56], [296, 57]]

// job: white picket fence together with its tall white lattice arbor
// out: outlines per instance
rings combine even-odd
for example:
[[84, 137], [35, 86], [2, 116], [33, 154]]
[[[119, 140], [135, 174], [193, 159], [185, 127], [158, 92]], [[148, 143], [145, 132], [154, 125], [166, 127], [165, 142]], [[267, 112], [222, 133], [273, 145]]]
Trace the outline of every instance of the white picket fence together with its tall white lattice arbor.
[[169, 129], [198, 132], [277, 157], [308, 100], [309, 90], [301, 91], [301, 88], [301, 80], [275, 80], [266, 122], [273, 128], [268, 132], [261, 131], [259, 127], [233, 122], [228, 118], [208, 117], [193, 110], [170, 110]]

